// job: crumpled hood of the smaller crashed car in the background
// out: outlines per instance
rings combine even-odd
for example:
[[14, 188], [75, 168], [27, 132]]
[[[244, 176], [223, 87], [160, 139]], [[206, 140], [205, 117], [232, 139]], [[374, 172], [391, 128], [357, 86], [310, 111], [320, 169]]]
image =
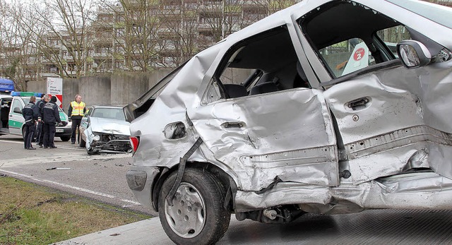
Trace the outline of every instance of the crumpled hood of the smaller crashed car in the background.
[[105, 119], [100, 117], [90, 117], [90, 128], [93, 132], [113, 133], [130, 136], [129, 121], [121, 121], [115, 119]]

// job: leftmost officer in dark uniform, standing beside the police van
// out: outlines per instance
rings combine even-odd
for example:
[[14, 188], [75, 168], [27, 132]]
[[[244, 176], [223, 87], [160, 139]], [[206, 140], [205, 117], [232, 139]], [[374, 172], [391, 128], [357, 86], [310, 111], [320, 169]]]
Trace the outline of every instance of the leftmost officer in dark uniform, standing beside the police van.
[[27, 150], [36, 150], [36, 148], [33, 148], [33, 146], [31, 145], [33, 134], [35, 133], [36, 128], [35, 123], [38, 120], [38, 116], [40, 114], [39, 108], [36, 107], [35, 101], [35, 96], [30, 97], [30, 102], [28, 102], [28, 104], [25, 105], [22, 110], [22, 115], [25, 119], [25, 138], [23, 147]]

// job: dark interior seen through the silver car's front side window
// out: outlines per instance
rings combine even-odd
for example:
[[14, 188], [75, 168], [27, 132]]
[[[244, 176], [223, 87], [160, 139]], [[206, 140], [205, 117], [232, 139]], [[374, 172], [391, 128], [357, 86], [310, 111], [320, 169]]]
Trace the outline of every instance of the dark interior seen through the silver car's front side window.
[[388, 44], [410, 39], [396, 20], [352, 1], [324, 4], [298, 22], [333, 78], [346, 75], [340, 70], [357, 43], [364, 42], [369, 49], [367, 66], [372, 66], [396, 59]]

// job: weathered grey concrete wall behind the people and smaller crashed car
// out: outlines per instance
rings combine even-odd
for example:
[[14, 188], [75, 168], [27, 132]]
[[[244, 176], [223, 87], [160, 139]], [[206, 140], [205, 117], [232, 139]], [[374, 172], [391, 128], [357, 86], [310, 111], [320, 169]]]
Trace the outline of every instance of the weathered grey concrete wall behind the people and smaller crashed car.
[[[112, 76], [91, 76], [63, 79], [63, 109], [76, 95], [88, 106], [93, 104], [126, 105], [137, 100], [157, 81], [173, 69], [159, 69], [152, 73], [118, 73]], [[47, 80], [28, 82], [28, 91], [47, 92]]]

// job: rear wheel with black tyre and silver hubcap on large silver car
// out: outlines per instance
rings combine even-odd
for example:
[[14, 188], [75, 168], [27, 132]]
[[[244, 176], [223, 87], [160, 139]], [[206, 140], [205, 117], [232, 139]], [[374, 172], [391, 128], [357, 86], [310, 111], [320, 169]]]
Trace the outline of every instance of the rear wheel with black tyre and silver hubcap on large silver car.
[[225, 188], [202, 169], [186, 169], [172, 204], [166, 196], [177, 177], [163, 183], [158, 215], [169, 239], [176, 244], [215, 244], [225, 234], [231, 218], [224, 208]]

